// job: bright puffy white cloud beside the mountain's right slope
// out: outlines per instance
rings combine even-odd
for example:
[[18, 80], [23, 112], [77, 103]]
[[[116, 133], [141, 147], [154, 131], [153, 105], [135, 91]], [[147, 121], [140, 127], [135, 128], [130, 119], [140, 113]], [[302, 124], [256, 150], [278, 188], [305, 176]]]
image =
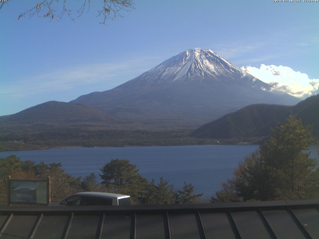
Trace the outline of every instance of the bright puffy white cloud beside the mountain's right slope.
[[302, 99], [319, 94], [319, 79], [309, 79], [307, 74], [287, 66], [261, 64], [259, 69], [250, 66], [241, 69], [270, 84], [272, 91], [285, 92]]

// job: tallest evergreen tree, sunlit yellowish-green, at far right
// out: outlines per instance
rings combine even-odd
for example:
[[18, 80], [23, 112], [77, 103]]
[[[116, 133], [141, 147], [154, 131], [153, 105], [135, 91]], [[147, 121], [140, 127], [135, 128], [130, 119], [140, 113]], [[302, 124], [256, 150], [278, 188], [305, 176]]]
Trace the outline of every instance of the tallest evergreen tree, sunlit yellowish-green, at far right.
[[270, 140], [260, 145], [261, 171], [266, 177], [257, 185], [264, 189], [261, 199], [302, 199], [310, 176], [317, 165], [309, 158], [313, 143], [312, 126], [303, 127], [291, 114], [287, 123], [276, 123]]

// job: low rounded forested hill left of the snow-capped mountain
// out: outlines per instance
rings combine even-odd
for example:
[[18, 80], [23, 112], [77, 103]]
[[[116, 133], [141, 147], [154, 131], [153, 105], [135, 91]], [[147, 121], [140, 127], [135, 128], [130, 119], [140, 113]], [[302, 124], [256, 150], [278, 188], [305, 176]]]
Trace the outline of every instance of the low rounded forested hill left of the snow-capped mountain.
[[81, 103], [49, 101], [0, 117], [0, 124], [114, 123], [114, 117]]

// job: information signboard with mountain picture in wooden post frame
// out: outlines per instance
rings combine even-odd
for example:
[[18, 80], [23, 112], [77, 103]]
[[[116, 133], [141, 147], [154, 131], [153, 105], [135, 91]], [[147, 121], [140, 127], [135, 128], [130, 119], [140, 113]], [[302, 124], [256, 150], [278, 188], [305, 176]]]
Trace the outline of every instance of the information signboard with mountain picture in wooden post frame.
[[47, 180], [10, 179], [8, 204], [48, 205], [50, 203], [50, 178]]

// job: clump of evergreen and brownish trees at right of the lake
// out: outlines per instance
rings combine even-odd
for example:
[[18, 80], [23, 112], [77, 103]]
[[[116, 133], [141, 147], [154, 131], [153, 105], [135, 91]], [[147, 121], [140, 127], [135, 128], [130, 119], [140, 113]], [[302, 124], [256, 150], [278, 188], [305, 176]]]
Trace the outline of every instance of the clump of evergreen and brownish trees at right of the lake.
[[272, 136], [234, 170], [212, 201], [314, 199], [319, 197], [318, 160], [310, 158], [312, 126], [291, 114]]

